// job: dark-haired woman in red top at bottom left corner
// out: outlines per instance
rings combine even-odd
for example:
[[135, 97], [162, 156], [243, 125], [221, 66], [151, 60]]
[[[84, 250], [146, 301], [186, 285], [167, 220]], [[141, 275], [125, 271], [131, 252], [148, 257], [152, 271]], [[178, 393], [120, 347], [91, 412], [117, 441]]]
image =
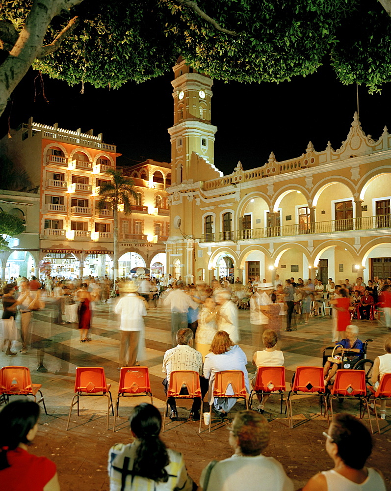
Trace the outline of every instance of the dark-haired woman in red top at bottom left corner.
[[0, 489], [59, 491], [55, 464], [27, 452], [38, 430], [39, 406], [12, 401], [0, 412]]

